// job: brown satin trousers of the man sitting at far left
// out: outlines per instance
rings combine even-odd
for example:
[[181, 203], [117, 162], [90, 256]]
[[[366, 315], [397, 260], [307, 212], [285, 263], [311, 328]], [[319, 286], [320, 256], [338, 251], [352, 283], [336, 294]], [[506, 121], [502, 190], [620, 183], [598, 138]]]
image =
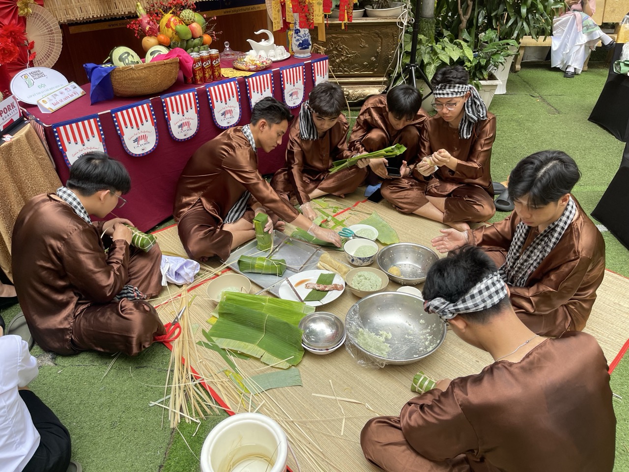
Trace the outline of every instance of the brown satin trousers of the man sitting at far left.
[[[132, 247], [129, 279], [147, 298], [160, 293], [162, 252], [158, 245], [148, 252]], [[135, 356], [166, 333], [155, 308], [142, 300], [112, 300], [110, 303], [78, 305], [70, 342], [77, 351], [124, 352]]]

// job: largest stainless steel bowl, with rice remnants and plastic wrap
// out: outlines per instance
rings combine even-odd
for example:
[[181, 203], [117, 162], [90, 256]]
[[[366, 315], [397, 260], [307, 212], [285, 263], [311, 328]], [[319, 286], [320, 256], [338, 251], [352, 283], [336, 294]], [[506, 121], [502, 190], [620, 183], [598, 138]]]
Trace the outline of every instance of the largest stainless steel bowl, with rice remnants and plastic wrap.
[[[445, 323], [435, 313], [426, 313], [420, 298], [401, 292], [365, 296], [345, 317], [347, 339], [379, 364], [411, 364], [435, 352], [445, 339]], [[391, 351], [381, 356], [359, 344], [359, 330], [391, 334], [385, 342]]]

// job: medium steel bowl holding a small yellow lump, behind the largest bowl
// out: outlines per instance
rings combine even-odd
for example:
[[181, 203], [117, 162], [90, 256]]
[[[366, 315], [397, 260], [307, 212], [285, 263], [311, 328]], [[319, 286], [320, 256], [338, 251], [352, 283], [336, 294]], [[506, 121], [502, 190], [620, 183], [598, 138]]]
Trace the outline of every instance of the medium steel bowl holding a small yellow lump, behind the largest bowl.
[[[430, 247], [399, 242], [382, 248], [378, 252], [377, 262], [392, 281], [400, 285], [417, 285], [426, 280], [428, 269], [438, 259], [437, 252]], [[401, 276], [389, 273], [392, 266], [399, 267]]]

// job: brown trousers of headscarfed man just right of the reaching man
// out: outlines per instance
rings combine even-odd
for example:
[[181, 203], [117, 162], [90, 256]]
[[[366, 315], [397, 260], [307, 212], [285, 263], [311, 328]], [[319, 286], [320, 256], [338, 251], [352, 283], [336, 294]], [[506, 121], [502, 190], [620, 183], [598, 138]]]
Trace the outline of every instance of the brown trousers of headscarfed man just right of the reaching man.
[[[367, 169], [352, 166], [334, 174], [330, 174], [328, 171], [318, 172], [313, 169], [303, 169], [302, 176], [306, 193], [320, 189], [332, 195], [345, 196], [355, 191], [363, 183], [365, 176], [367, 176]], [[271, 187], [291, 205], [298, 203], [297, 191], [289, 179], [288, 169], [279, 169], [275, 173], [271, 179]]]

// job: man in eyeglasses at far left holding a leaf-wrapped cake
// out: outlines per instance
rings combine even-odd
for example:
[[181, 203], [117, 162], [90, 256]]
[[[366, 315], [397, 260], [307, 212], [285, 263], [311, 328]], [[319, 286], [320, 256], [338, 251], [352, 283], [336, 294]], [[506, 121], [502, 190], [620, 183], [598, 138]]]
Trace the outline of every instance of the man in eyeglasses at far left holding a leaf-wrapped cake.
[[57, 354], [138, 354], [164, 335], [145, 301], [162, 288], [162, 252], [130, 247], [132, 223], [105, 218], [125, 205], [125, 167], [89, 152], [70, 167], [65, 187], [35, 196], [19, 212], [11, 245], [13, 281], [37, 344]]

